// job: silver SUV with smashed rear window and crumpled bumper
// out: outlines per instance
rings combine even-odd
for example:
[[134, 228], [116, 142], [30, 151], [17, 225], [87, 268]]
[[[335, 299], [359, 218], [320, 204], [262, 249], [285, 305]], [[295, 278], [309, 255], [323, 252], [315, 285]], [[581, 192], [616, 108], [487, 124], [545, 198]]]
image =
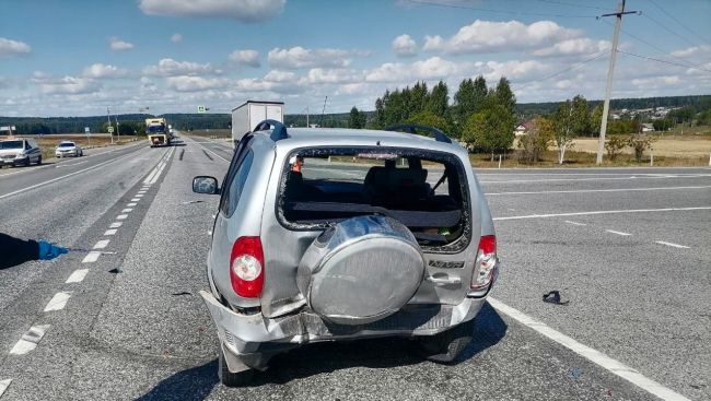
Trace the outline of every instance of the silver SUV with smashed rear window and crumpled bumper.
[[498, 275], [468, 154], [433, 128], [266, 120], [236, 143], [221, 187], [199, 176], [193, 190], [221, 194], [201, 295], [228, 386], [319, 341], [404, 337], [452, 362]]

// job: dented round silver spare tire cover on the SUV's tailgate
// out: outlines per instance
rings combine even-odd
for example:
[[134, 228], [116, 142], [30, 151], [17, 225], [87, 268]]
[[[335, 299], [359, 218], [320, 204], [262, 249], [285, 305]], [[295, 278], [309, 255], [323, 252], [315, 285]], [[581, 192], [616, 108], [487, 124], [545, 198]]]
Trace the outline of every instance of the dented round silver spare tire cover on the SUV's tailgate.
[[346, 220], [318, 236], [301, 259], [298, 284], [326, 320], [362, 325], [383, 319], [412, 298], [424, 258], [410, 231], [396, 220]]

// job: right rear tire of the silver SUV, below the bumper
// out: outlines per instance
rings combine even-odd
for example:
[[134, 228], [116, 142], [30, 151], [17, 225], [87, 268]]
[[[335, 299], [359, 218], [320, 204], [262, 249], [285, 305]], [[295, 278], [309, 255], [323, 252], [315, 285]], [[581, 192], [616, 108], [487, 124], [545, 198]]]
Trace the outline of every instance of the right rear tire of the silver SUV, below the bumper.
[[474, 333], [474, 319], [434, 335], [418, 339], [420, 353], [436, 363], [451, 363], [464, 351]]

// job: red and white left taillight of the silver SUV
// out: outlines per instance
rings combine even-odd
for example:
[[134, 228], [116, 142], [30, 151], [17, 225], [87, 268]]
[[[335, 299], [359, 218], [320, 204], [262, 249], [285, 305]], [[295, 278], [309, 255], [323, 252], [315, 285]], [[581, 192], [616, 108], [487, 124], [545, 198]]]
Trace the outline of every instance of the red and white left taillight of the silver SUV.
[[264, 251], [259, 237], [240, 237], [230, 255], [230, 281], [240, 296], [256, 298], [264, 286]]

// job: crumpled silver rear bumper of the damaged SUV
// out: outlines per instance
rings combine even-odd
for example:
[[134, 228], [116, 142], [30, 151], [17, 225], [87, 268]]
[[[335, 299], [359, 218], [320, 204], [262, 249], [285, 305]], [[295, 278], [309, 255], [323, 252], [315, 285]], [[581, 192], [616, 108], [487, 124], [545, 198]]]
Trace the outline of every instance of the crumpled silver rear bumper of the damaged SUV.
[[271, 356], [310, 342], [436, 334], [474, 319], [486, 302], [486, 297], [466, 297], [458, 305], [407, 305], [382, 320], [346, 326], [330, 323], [310, 311], [278, 318], [242, 315], [222, 305], [209, 292], [200, 291], [200, 295], [218, 328], [231, 371], [265, 369]]

